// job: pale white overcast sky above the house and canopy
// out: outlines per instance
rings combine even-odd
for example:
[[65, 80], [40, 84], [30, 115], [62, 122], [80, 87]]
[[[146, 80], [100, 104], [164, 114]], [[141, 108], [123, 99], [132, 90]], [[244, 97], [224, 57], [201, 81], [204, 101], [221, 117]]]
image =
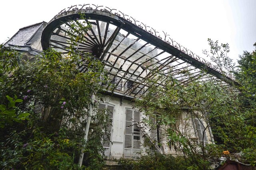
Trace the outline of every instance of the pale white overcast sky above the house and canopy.
[[95, 4], [120, 10], [170, 37], [200, 57], [207, 38], [230, 44], [235, 61], [256, 42], [256, 0], [1, 0], [0, 43], [20, 28], [49, 22], [74, 4]]

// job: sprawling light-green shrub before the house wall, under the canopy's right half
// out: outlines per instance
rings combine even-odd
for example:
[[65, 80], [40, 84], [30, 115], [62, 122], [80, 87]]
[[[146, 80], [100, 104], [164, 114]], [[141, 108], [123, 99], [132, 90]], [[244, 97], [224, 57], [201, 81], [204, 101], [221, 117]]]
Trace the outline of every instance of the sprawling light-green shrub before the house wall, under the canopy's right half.
[[[161, 76], [163, 75], [158, 74], [158, 77]], [[184, 86], [172, 79], [170, 75], [169, 82], [166, 81], [163, 86], [148, 89], [148, 94], [144, 99], [134, 103], [146, 116], [156, 117], [156, 124], [161, 127], [161, 135], [167, 138], [170, 147], [175, 149], [178, 155], [177, 159], [186, 161], [183, 167], [174, 166], [174, 169], [207, 169], [208, 167], [206, 166], [209, 163], [207, 161], [208, 152], [205, 151], [206, 146], [202, 141], [199, 144], [194, 144], [190, 140], [194, 137], [190, 132], [192, 128], [190, 121], [194, 118], [200, 119], [206, 122], [205, 128], [208, 128], [210, 116], [214, 114], [213, 111], [217, 111], [220, 105], [231, 100], [230, 95], [227, 95], [224, 89], [213, 82], [194, 81]], [[183, 121], [182, 128], [180, 128], [180, 121]], [[156, 126], [150, 120], [143, 120], [143, 122], [146, 122], [151, 128]], [[148, 158], [148, 160], [151, 159]], [[157, 164], [156, 167], [168, 169], [172, 166], [163, 165], [163, 168]]]

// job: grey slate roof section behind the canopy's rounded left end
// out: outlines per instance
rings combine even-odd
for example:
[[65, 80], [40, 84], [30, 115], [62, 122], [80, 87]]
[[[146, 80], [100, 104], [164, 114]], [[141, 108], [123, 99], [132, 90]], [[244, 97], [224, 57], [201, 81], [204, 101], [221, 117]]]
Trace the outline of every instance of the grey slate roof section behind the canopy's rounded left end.
[[22, 46], [22, 45], [30, 45], [33, 42], [37, 41], [42, 34], [42, 31], [44, 27], [46, 26], [46, 22], [40, 22], [37, 24], [33, 24], [30, 26], [26, 26], [24, 28], [20, 28], [10, 40], [8, 40], [5, 45], [17, 45], [17, 46]]

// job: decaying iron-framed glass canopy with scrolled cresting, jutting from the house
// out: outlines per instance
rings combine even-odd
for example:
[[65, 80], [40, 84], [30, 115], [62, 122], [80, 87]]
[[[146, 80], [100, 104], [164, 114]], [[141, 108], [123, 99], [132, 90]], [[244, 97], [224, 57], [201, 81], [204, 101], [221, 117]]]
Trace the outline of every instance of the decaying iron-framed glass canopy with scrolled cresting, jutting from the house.
[[[79, 43], [78, 51], [90, 52], [104, 62], [118, 95], [140, 97], [152, 85], [147, 80], [161, 85], [164, 80], [157, 80], [156, 71], [172, 75], [183, 85], [210, 79], [224, 86], [237, 84], [166, 33], [161, 35], [134, 18], [103, 6], [84, 4], [62, 10], [44, 28], [43, 49], [54, 47], [68, 53], [68, 23], [79, 21], [80, 14], [85, 14], [92, 27], [84, 33], [86, 41]], [[80, 71], [85, 68], [86, 65], [79, 67]]]

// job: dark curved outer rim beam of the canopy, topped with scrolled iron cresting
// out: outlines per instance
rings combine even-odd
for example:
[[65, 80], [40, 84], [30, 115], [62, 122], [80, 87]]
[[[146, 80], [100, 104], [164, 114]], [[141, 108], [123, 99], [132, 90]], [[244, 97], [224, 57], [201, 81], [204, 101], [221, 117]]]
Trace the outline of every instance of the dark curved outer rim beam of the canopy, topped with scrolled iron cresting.
[[46, 28], [44, 28], [41, 39], [43, 49], [45, 50], [49, 47], [50, 37], [56, 28], [70, 20], [80, 19], [80, 14], [82, 13], [86, 15], [86, 18], [113, 24], [129, 32], [130, 34], [133, 34], [134, 36], [158, 47], [159, 49], [162, 49], [163, 51], [176, 56], [186, 63], [189, 63], [198, 69], [204, 70], [206, 73], [214, 75], [229, 85], [240, 86], [236, 81], [213, 69], [209, 62], [201, 61], [197, 55], [194, 56], [192, 51], [173, 41], [167, 33], [164, 33], [164, 38], [162, 38], [159, 35], [159, 32], [156, 32], [156, 30], [153, 28], [136, 21], [134, 18], [130, 20], [131, 17], [128, 18], [127, 15], [124, 15], [120, 11], [106, 8], [107, 7], [102, 8], [102, 6], [91, 6], [90, 4], [84, 4], [71, 6], [67, 10], [62, 10], [48, 23]]

